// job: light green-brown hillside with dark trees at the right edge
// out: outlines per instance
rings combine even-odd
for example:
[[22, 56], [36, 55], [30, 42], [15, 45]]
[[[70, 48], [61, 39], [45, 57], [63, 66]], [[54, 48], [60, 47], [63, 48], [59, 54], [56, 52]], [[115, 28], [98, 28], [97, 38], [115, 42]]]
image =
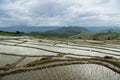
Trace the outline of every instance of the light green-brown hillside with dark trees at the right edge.
[[108, 31], [108, 32], [84, 32], [81, 34], [73, 35], [70, 38], [74, 39], [90, 39], [90, 40], [120, 40], [120, 32]]

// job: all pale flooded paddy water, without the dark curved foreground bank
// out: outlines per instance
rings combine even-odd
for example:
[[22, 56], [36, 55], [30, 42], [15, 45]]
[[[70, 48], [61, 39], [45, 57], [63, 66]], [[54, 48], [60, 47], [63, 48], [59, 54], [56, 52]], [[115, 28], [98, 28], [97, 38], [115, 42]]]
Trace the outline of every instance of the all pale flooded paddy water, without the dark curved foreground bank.
[[[107, 56], [107, 58], [112, 58], [119, 62], [120, 46], [116, 44], [113, 46], [112, 44], [81, 45], [23, 37], [9, 39], [4, 37], [4, 40], [0, 40], [0, 67], [7, 64], [15, 64], [10, 70], [19, 69], [28, 63], [41, 60], [44, 58], [43, 56], [57, 56], [53, 57], [53, 59], [90, 59]], [[72, 64], [11, 74], [2, 77], [1, 80], [120, 80], [120, 74], [102, 65]]]

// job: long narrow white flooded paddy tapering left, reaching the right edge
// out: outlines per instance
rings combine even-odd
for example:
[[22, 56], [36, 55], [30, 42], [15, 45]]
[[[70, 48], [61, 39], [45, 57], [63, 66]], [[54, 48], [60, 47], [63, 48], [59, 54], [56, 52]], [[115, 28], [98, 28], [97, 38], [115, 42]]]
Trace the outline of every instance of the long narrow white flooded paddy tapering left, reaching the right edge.
[[[37, 48], [42, 48], [42, 49], [57, 51], [57, 52], [63, 52], [63, 53], [79, 54], [79, 55], [90, 55], [90, 56], [100, 56], [100, 57], [111, 56], [110, 54], [104, 54], [101, 52], [91, 51], [91, 49], [86, 51], [86, 50], [62, 48], [62, 47], [56, 47], [56, 46], [43, 46], [43, 45], [31, 45], [31, 44], [20, 44], [20, 45], [27, 46], [27, 47], [37, 47]], [[85, 49], [85, 48], [83, 48], [83, 49]], [[112, 54], [114, 54], [114, 52]], [[112, 55], [112, 56], [116, 57], [116, 58], [120, 58], [120, 56], [115, 56], [115, 55]]]

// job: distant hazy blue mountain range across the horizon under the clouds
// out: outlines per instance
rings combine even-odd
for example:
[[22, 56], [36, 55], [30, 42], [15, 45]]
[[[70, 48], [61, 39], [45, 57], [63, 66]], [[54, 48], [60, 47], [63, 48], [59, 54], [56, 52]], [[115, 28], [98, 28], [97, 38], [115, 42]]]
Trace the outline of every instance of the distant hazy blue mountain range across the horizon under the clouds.
[[[80, 26], [67, 26], [70, 29], [73, 29], [75, 31], [77, 31], [77, 29], [79, 30]], [[64, 31], [64, 29], [66, 28], [67, 30], [69, 30], [67, 27], [65, 26], [26, 26], [26, 25], [17, 25], [17, 26], [9, 26], [9, 27], [1, 27], [0, 26], [0, 31], [7, 31], [7, 32], [15, 32], [15, 31], [20, 31], [20, 32], [46, 32], [48, 30], [56, 30], [59, 29], [59, 31]], [[73, 27], [73, 28], [72, 28]], [[86, 26], [82, 26], [84, 29], [88, 30], [89, 32], [107, 32], [107, 31], [114, 31], [114, 32], [120, 32], [120, 27], [104, 27], [104, 26], [100, 26], [100, 27], [86, 27]], [[80, 28], [82, 28], [80, 27]]]

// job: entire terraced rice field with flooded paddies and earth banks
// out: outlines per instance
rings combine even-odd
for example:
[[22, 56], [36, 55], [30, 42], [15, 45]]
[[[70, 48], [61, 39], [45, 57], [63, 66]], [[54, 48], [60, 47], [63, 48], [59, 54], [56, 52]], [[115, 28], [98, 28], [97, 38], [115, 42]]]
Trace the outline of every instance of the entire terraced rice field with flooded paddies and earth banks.
[[0, 38], [1, 80], [120, 80], [120, 45]]

